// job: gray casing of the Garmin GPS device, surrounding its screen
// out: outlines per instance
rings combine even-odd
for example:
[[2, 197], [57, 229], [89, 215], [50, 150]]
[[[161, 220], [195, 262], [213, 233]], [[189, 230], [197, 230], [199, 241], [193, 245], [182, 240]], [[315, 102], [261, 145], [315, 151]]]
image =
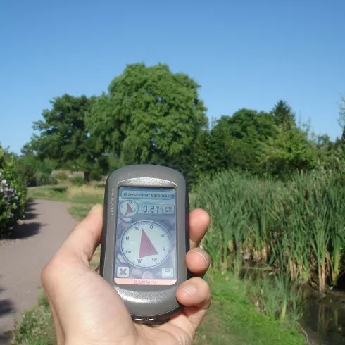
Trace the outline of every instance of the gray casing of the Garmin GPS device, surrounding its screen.
[[[162, 285], [120, 285], [114, 281], [115, 238], [119, 187], [162, 187], [176, 190], [177, 282]], [[186, 253], [189, 251], [189, 196], [184, 176], [161, 165], [129, 165], [115, 170], [106, 180], [100, 274], [123, 299], [136, 322], [161, 324], [182, 309], [175, 292], [189, 279]]]

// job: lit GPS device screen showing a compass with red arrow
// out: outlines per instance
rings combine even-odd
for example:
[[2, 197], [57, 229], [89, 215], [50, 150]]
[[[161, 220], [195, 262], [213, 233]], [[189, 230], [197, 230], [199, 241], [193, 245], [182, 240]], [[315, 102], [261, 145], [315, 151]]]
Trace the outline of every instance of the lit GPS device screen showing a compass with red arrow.
[[176, 191], [118, 189], [114, 280], [116, 284], [177, 282]]

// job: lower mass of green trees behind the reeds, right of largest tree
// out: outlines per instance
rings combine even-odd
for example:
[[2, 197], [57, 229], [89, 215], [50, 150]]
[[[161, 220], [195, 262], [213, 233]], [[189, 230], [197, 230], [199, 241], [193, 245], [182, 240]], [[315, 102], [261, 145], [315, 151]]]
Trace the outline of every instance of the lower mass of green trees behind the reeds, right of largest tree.
[[199, 176], [231, 168], [285, 180], [296, 170], [325, 166], [333, 149], [327, 137], [315, 139], [297, 126], [291, 107], [278, 101], [270, 113], [242, 108], [213, 121], [199, 138], [194, 166]]

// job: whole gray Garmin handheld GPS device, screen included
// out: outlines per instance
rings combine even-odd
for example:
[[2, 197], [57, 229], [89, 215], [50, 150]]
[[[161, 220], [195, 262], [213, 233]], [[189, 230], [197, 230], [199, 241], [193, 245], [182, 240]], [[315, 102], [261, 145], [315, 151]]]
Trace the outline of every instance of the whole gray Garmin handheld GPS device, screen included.
[[130, 165], [106, 180], [101, 276], [134, 322], [161, 324], [178, 313], [177, 287], [189, 278], [189, 197], [183, 175]]

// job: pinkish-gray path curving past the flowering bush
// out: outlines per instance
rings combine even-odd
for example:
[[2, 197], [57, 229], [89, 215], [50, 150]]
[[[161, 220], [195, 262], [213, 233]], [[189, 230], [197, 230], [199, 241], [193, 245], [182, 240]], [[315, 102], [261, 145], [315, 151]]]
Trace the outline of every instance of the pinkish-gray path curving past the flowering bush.
[[30, 201], [25, 222], [0, 242], [0, 344], [21, 313], [37, 304], [42, 268], [76, 223], [64, 203]]

